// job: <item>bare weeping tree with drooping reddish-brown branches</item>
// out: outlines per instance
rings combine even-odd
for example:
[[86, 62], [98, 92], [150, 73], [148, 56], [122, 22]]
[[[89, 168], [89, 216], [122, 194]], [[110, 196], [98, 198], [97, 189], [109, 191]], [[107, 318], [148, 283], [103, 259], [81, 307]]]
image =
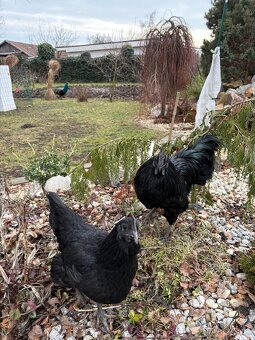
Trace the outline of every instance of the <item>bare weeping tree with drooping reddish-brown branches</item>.
[[179, 91], [190, 81], [195, 50], [189, 29], [178, 17], [160, 22], [148, 32], [146, 40], [141, 73], [144, 100], [160, 103], [163, 117], [166, 105], [174, 98], [177, 102]]

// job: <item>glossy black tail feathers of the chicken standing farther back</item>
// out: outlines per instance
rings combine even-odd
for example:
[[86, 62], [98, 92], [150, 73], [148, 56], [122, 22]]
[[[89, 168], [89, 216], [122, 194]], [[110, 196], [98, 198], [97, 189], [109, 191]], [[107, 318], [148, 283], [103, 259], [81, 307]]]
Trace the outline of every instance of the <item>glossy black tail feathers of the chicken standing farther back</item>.
[[190, 185], [205, 185], [212, 177], [215, 163], [215, 152], [221, 142], [217, 137], [205, 135], [190, 147], [181, 150], [171, 161], [185, 176]]

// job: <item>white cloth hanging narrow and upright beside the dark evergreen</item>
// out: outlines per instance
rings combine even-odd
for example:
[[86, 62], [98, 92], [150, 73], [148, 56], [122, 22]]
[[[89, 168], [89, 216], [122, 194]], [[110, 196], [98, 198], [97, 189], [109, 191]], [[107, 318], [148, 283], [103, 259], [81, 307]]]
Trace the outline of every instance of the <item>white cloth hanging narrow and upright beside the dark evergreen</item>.
[[212, 64], [197, 102], [195, 128], [210, 126], [211, 114], [215, 110], [215, 98], [221, 88], [220, 47], [212, 51]]

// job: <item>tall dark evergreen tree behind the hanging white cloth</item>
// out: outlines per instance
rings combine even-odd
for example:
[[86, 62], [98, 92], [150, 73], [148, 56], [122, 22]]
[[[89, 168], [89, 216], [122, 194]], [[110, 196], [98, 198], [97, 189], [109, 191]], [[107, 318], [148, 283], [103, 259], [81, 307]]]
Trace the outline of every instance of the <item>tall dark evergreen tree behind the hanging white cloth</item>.
[[[225, 0], [214, 0], [206, 13], [212, 41], [202, 46], [202, 68], [207, 75], [211, 64], [211, 49], [218, 43], [219, 28]], [[255, 74], [255, 0], [229, 0], [221, 41], [223, 81], [248, 81]]]

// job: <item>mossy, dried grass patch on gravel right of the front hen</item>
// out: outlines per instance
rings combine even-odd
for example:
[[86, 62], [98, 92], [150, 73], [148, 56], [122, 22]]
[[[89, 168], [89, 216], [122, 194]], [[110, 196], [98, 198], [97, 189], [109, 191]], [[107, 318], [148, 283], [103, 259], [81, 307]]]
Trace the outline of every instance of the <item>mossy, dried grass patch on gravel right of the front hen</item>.
[[139, 284], [132, 298], [167, 306], [182, 289], [195, 290], [224, 272], [224, 251], [219, 240], [210, 231], [209, 223], [196, 224], [191, 231], [187, 223], [178, 222], [167, 245], [159, 239], [158, 223], [157, 230], [141, 236]]

